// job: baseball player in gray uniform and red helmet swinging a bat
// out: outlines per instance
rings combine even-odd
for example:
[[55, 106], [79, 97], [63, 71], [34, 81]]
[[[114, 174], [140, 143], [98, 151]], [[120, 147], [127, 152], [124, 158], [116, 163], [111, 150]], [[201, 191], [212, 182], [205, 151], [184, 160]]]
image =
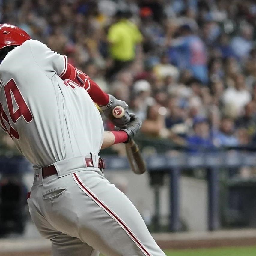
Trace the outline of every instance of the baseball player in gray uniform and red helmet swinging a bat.
[[[66, 56], [0, 25], [0, 124], [34, 165], [31, 218], [54, 256], [165, 255], [129, 199], [103, 176], [101, 147], [130, 141], [141, 121]], [[120, 131], [104, 132], [97, 103]], [[112, 115], [115, 106], [123, 118]]]

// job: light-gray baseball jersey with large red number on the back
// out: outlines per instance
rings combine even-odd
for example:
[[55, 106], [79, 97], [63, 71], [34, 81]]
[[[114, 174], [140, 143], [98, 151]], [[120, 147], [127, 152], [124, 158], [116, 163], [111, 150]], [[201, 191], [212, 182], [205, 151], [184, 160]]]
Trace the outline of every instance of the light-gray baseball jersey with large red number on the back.
[[98, 153], [100, 114], [87, 91], [59, 76], [67, 58], [36, 40], [9, 52], [0, 65], [0, 124], [36, 167]]

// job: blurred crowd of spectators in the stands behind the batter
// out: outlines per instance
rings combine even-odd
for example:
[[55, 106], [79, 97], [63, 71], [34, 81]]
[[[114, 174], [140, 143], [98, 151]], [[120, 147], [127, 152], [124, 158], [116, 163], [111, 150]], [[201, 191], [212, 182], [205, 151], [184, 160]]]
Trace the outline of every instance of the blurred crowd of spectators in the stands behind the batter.
[[0, 15], [125, 100], [145, 135], [256, 143], [255, 1], [8, 0]]

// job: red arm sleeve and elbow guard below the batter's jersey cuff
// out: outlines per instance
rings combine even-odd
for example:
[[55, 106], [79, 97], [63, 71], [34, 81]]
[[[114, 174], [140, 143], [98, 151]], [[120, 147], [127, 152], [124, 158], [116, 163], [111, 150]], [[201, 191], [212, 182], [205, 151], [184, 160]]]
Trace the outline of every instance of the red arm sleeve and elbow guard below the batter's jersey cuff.
[[104, 106], [109, 103], [109, 95], [102, 91], [89, 76], [72, 66], [70, 63], [67, 64], [66, 71], [61, 74], [60, 77], [62, 80], [70, 79], [85, 88], [92, 100], [99, 106]]

